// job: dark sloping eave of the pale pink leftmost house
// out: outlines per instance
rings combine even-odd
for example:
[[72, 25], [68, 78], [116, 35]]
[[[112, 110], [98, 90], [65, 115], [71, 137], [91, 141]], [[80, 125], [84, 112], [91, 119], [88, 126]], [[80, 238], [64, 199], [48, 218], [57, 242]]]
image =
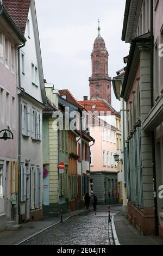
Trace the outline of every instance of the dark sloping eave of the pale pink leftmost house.
[[0, 2], [0, 15], [3, 15], [4, 18], [10, 23], [10, 25], [12, 26], [12, 28], [16, 32], [18, 38], [22, 42], [26, 42], [27, 41], [26, 38], [24, 37], [24, 35], [20, 31], [20, 29], [17, 27], [16, 23], [12, 20], [12, 18], [9, 15], [8, 11], [4, 8], [4, 6], [3, 6], [3, 4], [1, 4], [1, 2]]

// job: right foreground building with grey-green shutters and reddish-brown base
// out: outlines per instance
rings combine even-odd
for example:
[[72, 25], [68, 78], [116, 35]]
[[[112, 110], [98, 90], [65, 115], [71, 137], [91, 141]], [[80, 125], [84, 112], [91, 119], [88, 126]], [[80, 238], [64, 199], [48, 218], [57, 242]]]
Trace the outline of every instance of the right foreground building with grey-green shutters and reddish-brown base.
[[[122, 32], [122, 40], [130, 42], [121, 92], [121, 96], [127, 103], [128, 217], [143, 234], [158, 234], [158, 218], [160, 234], [162, 230], [156, 198], [156, 143], [152, 129], [147, 129], [152, 120], [149, 113], [154, 108], [153, 99], [155, 103], [157, 99], [156, 88], [159, 88], [159, 71], [153, 76], [153, 69], [155, 72], [159, 70], [157, 69], [159, 62], [153, 63], [154, 56], [155, 60], [158, 58], [158, 45], [157, 41], [155, 44], [153, 42], [153, 31], [156, 35], [158, 27], [161, 29], [162, 26], [159, 14], [156, 15], [156, 7], [160, 2], [162, 1], [126, 1]], [[160, 8], [158, 13], [159, 10], [162, 11]], [[157, 19], [155, 19], [156, 16]], [[160, 21], [157, 23], [158, 27], [154, 28], [153, 25], [158, 21]], [[154, 95], [153, 92], [155, 92]]]

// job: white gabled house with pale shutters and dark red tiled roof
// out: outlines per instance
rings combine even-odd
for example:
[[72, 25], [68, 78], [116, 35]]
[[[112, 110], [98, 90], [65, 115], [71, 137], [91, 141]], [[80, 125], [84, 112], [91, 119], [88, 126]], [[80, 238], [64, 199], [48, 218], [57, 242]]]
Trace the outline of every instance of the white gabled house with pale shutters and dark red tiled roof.
[[14, 0], [3, 4], [27, 39], [18, 52], [18, 214], [20, 223], [24, 223], [43, 217], [42, 108], [46, 94], [35, 2]]

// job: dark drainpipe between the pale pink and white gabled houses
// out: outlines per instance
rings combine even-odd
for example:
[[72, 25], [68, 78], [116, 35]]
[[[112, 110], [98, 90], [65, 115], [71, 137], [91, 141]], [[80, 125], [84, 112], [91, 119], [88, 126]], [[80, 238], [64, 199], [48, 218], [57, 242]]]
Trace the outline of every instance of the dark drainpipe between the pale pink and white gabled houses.
[[20, 65], [20, 49], [26, 45], [26, 41], [23, 42], [23, 45], [17, 48], [18, 50], [18, 87], [22, 90], [18, 94], [18, 216], [20, 223], [20, 186], [21, 186], [21, 96], [24, 95], [25, 90], [21, 87], [21, 65]]

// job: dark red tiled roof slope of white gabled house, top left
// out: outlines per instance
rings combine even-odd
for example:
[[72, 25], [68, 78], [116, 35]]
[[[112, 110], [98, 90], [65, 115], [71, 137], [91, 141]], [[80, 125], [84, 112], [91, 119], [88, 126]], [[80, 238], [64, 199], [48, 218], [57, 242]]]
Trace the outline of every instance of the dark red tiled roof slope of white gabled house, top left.
[[30, 0], [3, 0], [3, 5], [24, 35], [27, 25]]

